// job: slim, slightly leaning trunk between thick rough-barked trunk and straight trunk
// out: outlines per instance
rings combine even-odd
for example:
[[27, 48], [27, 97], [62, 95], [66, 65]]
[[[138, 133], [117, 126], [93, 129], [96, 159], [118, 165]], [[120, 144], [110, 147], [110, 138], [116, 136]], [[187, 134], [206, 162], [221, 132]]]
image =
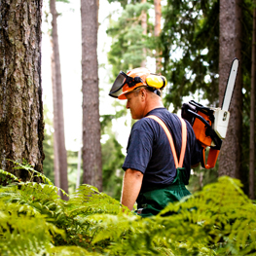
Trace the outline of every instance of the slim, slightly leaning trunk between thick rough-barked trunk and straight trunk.
[[[50, 1], [50, 11], [53, 16], [53, 99], [54, 99], [54, 128], [55, 128], [55, 181], [62, 190], [68, 193], [68, 179], [67, 179], [67, 154], [65, 147], [65, 132], [64, 132], [64, 115], [63, 115], [63, 96], [61, 86], [61, 72], [58, 50], [58, 35], [57, 35], [57, 13], [55, 9], [55, 0]], [[68, 198], [61, 194], [63, 200]]]

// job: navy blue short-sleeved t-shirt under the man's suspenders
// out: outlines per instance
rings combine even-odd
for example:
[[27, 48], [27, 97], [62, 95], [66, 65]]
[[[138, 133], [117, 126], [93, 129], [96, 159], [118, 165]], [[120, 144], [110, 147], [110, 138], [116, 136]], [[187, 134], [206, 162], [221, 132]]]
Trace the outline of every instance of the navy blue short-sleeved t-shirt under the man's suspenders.
[[[165, 108], [156, 108], [146, 116], [155, 115], [164, 121], [169, 129], [179, 161], [181, 150], [181, 122], [177, 115], [168, 112]], [[187, 147], [183, 162], [185, 167], [185, 184], [190, 178], [191, 165], [201, 161], [201, 148], [191, 125], [187, 125]], [[150, 185], [169, 185], [176, 176], [169, 141], [165, 130], [155, 120], [142, 118], [131, 128], [128, 138], [128, 155], [123, 169], [128, 168], [141, 171], [143, 175], [142, 190]]]

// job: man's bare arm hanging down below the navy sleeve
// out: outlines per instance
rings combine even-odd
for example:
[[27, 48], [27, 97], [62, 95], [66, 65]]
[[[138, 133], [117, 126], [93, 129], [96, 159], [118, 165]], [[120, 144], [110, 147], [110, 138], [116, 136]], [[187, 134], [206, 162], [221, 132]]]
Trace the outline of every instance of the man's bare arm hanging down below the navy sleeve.
[[143, 174], [136, 170], [128, 168], [124, 175], [123, 190], [121, 196], [121, 203], [128, 206], [132, 210], [133, 205], [138, 197]]

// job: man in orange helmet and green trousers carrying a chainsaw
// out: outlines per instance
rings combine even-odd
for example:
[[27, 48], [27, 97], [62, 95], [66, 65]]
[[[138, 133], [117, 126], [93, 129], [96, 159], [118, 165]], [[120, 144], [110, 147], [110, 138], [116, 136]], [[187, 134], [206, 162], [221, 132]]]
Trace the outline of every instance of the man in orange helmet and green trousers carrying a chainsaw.
[[[128, 139], [121, 202], [131, 210], [137, 201], [137, 213], [142, 217], [156, 215], [168, 202], [190, 195], [185, 185], [190, 178], [191, 165], [201, 161], [193, 128], [164, 107], [161, 90], [165, 85], [165, 77], [151, 74], [146, 68], [135, 68], [128, 74], [121, 71], [109, 93], [127, 99], [132, 119], [138, 120]], [[182, 135], [184, 129], [186, 133]], [[178, 160], [181, 158], [182, 145], [184, 161], [181, 160], [178, 167], [174, 155]]]

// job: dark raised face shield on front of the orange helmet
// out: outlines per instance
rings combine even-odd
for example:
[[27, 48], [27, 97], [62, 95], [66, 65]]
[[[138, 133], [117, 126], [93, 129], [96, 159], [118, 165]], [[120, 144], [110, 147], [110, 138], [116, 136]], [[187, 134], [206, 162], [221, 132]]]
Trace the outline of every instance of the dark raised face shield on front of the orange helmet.
[[125, 72], [120, 71], [109, 91], [109, 95], [115, 98], [125, 99], [124, 94], [133, 91], [139, 84], [143, 84], [140, 77], [129, 77]]

